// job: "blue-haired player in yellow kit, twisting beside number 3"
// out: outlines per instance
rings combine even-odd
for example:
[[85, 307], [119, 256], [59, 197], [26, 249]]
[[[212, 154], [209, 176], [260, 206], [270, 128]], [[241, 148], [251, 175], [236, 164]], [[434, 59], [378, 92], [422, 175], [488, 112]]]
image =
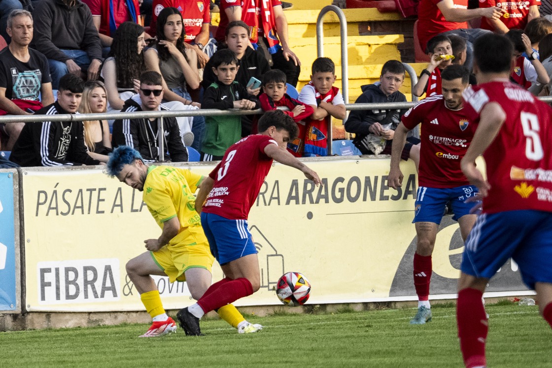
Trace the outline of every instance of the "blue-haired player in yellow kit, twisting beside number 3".
[[[109, 155], [107, 173], [144, 192], [142, 200], [162, 229], [159, 238], [144, 241], [147, 252], [126, 263], [126, 273], [153, 319], [150, 329], [140, 337], [174, 332], [176, 323], [165, 313], [151, 275], [167, 275], [170, 282], [186, 281], [195, 300], [211, 285], [214, 258], [194, 209], [194, 193], [203, 176], [182, 168], [147, 166], [140, 153], [128, 146], [120, 146]], [[247, 322], [231, 304], [217, 313], [239, 333], [262, 329], [260, 324]]]

